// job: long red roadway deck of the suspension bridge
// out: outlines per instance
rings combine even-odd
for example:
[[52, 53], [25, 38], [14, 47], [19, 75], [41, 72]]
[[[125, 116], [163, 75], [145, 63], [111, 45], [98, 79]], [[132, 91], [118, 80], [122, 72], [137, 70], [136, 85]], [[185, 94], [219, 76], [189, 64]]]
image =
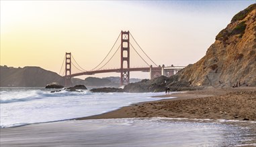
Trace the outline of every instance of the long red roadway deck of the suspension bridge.
[[[132, 67], [132, 68], [123, 68], [123, 71], [142, 71], [142, 72], [149, 72], [150, 69], [153, 71], [161, 71], [162, 67]], [[83, 75], [93, 75], [95, 73], [110, 73], [110, 72], [121, 72], [121, 68], [117, 69], [102, 69], [102, 70], [95, 70], [95, 71], [85, 71], [81, 73], [73, 73], [68, 75], [68, 78], [76, 77], [76, 76], [83, 76]]]

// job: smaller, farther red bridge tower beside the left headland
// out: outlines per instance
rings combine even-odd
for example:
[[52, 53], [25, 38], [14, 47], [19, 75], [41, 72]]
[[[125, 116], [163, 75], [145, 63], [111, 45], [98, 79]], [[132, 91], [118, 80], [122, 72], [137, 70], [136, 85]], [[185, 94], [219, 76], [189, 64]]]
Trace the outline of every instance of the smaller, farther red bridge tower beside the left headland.
[[71, 77], [71, 53], [66, 52], [65, 63], [65, 87], [72, 86]]

